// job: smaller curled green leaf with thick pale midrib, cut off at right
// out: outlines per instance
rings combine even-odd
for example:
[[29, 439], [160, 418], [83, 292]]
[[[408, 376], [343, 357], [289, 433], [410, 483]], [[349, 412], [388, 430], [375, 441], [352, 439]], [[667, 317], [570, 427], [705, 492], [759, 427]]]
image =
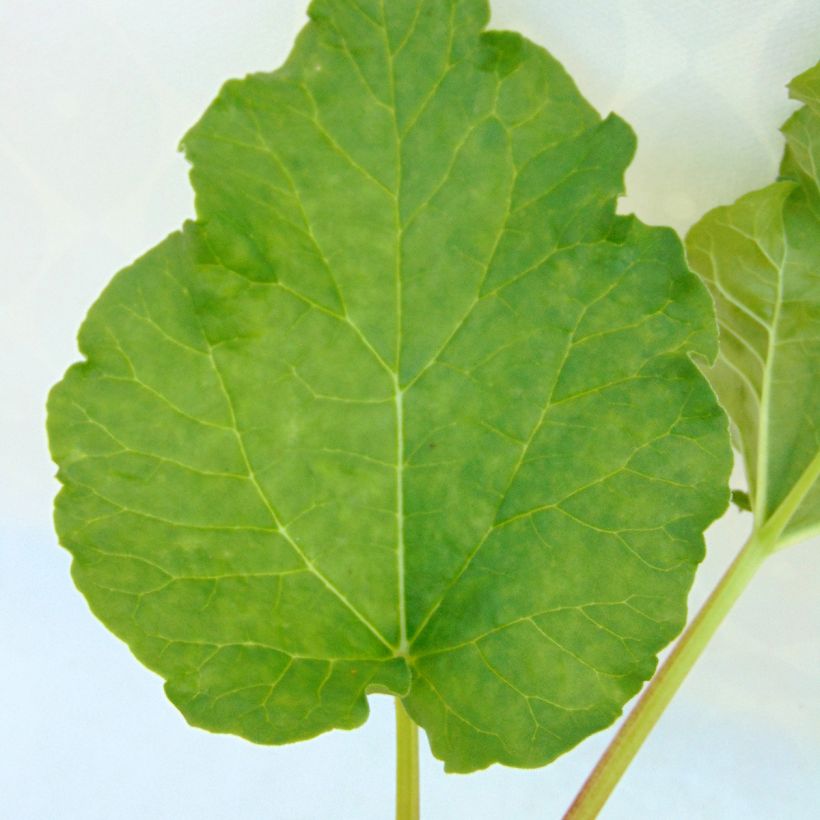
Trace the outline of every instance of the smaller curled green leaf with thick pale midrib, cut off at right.
[[687, 238], [720, 324], [708, 376], [773, 548], [820, 532], [820, 64], [790, 89], [805, 106], [783, 127], [781, 180], [710, 211]]

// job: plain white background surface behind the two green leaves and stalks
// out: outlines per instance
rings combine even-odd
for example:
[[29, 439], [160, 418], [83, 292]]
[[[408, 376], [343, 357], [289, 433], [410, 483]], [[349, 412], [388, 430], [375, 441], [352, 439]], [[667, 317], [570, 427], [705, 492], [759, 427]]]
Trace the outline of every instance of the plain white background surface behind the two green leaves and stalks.
[[[392, 704], [282, 748], [188, 728], [88, 612], [51, 530], [49, 386], [119, 268], [192, 215], [179, 137], [229, 77], [276, 67], [305, 0], [0, 0], [0, 817], [389, 818]], [[773, 179], [784, 84], [820, 58], [817, 0], [495, 0], [640, 145], [625, 205], [687, 228]], [[737, 481], [742, 479], [738, 476]], [[693, 604], [748, 517], [709, 533]], [[818, 544], [770, 560], [603, 813], [820, 816]], [[538, 771], [445, 776], [425, 818], [559, 818], [609, 733]]]

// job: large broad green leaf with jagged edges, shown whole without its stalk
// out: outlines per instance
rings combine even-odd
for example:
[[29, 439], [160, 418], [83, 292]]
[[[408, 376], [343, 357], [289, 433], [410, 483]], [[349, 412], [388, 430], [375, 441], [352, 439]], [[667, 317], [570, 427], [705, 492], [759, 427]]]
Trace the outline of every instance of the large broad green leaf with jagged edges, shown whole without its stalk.
[[615, 216], [630, 129], [483, 0], [320, 0], [183, 141], [196, 222], [54, 389], [57, 529], [191, 723], [404, 698], [454, 771], [611, 723], [725, 508], [709, 297]]

